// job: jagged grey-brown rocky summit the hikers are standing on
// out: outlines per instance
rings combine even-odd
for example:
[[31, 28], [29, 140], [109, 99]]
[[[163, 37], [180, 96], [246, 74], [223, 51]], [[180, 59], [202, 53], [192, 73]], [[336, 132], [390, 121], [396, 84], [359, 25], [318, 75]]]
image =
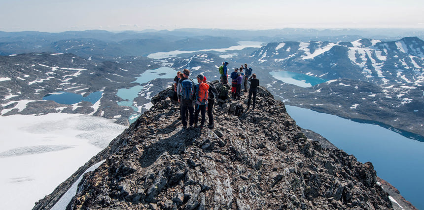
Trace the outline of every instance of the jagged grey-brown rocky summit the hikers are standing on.
[[[215, 82], [216, 83], [216, 82]], [[256, 109], [215, 102], [215, 128], [181, 126], [167, 89], [154, 106], [34, 210], [51, 209], [90, 166], [67, 210], [392, 209], [371, 163], [308, 139], [259, 87]]]

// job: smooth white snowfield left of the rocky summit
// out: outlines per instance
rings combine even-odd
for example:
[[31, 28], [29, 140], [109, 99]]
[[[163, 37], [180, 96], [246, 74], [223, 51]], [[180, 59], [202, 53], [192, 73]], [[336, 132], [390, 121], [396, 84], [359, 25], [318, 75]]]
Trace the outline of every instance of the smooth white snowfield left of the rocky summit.
[[0, 117], [1, 209], [32, 209], [125, 128], [81, 114]]

